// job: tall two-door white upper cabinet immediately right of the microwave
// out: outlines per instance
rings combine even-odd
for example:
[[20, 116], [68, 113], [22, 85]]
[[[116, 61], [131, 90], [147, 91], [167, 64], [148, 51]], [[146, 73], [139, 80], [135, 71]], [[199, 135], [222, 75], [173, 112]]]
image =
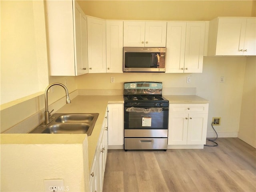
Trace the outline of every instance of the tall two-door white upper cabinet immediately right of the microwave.
[[205, 22], [167, 22], [166, 73], [202, 73]]

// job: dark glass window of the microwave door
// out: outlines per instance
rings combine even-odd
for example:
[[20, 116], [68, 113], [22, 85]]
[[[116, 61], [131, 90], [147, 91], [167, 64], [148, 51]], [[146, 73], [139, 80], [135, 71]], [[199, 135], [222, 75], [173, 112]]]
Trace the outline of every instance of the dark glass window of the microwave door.
[[126, 52], [126, 68], [158, 68], [159, 53]]

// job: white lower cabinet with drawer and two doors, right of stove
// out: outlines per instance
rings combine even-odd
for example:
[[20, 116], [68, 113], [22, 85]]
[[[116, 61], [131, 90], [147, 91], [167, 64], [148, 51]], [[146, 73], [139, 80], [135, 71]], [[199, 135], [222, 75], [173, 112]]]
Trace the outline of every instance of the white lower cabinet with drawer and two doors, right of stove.
[[170, 104], [168, 148], [203, 148], [206, 143], [208, 104]]

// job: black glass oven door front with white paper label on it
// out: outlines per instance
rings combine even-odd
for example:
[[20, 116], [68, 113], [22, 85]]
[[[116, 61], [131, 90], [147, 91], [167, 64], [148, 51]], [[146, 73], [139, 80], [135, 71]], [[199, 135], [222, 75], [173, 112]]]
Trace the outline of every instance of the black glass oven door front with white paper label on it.
[[125, 129], [168, 129], [168, 109], [162, 112], [127, 112], [124, 110]]

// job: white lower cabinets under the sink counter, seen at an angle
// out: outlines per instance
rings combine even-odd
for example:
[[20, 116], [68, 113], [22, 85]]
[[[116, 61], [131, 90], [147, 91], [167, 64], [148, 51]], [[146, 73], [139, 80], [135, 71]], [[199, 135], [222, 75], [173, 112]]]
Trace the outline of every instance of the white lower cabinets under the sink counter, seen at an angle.
[[108, 154], [108, 111], [106, 110], [100, 138], [98, 140], [94, 161], [89, 176], [91, 192], [100, 192], [103, 189], [104, 172]]

